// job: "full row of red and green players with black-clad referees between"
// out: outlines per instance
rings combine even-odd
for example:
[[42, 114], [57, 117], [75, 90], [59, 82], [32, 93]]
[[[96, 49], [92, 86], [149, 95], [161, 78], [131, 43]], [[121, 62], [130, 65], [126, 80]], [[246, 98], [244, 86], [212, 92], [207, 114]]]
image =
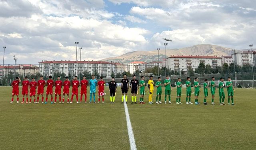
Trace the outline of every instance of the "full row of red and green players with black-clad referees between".
[[[51, 103], [55, 104], [57, 100], [57, 96], [59, 96], [59, 103], [64, 103], [64, 98], [65, 95], [68, 97], [68, 102], [67, 103], [72, 103], [74, 95], [76, 95], [76, 102], [81, 103], [83, 95], [85, 97], [85, 103], [87, 99], [87, 86], [88, 84], [90, 85], [90, 102], [92, 103], [92, 96], [93, 96], [93, 102], [96, 103], [95, 100], [95, 93], [96, 93], [96, 86], [98, 87], [98, 103], [100, 103], [100, 97], [102, 97], [102, 103], [104, 103], [104, 88], [105, 88], [105, 82], [102, 77], [100, 77], [100, 81], [97, 81], [95, 79], [95, 76], [92, 75], [92, 79], [88, 82], [86, 80], [86, 76], [83, 76], [83, 80], [80, 82], [77, 80], [77, 76], [74, 76], [74, 80], [70, 82], [68, 80], [68, 77], [65, 77], [65, 81], [62, 82], [60, 80], [60, 76], [58, 76], [57, 80], [54, 82], [52, 80], [52, 76], [48, 77], [48, 80], [43, 80], [43, 76], [40, 76], [40, 80], [38, 82], [35, 81], [35, 78], [32, 78], [32, 81], [29, 82], [28, 78], [25, 77], [24, 81], [22, 81], [22, 103], [24, 103], [24, 99], [26, 96], [26, 103], [30, 104], [32, 101], [32, 98], [34, 97], [34, 103], [37, 104], [39, 103], [39, 98], [40, 95], [42, 97], [42, 103], [47, 104], [48, 103], [48, 95], [51, 96]], [[214, 103], [214, 97], [216, 93], [216, 88], [215, 88], [215, 78], [212, 77], [212, 81], [210, 82], [210, 91], [212, 94], [212, 105], [215, 105]], [[19, 102], [19, 83], [21, 82], [19, 77], [16, 77], [16, 80], [12, 82], [12, 101], [10, 103], [13, 103], [14, 96], [17, 96], [17, 103]], [[121, 90], [122, 90], [122, 103], [124, 103], [124, 100], [127, 103], [128, 100], [128, 90], [131, 90], [132, 93], [132, 104], [137, 104], [137, 93], [140, 88], [140, 104], [145, 104], [144, 102], [144, 95], [146, 93], [146, 82], [144, 81], [144, 76], [141, 76], [141, 80], [138, 81], [136, 79], [136, 76], [133, 76], [133, 79], [130, 81], [127, 79], [126, 75], [124, 75], [124, 78], [121, 80]], [[46, 89], [46, 102], [44, 102], [44, 87], [47, 84], [47, 89]], [[109, 84], [109, 92], [110, 92], [110, 103], [115, 103], [115, 97], [116, 97], [116, 90], [117, 90], [117, 84], [115, 81], [115, 78], [113, 77], [112, 80], [108, 83]], [[72, 85], [72, 94], [71, 94], [71, 101], [69, 100], [69, 89], [70, 86]], [[204, 89], [204, 105], [207, 105], [208, 103], [206, 102], [206, 98], [208, 96], [208, 85], [209, 82], [207, 79], [204, 80], [203, 84], [203, 89]], [[53, 87], [55, 86], [55, 97], [54, 97], [54, 102], [53, 102]], [[62, 101], [61, 101], [61, 89], [63, 88], [63, 96], [62, 96]], [[81, 91], [80, 91], [80, 102], [78, 102], [78, 87], [81, 86]], [[165, 91], [164, 91], [164, 103], [167, 104], [167, 95], [169, 99], [169, 104], [172, 104], [171, 102], [171, 80], [169, 76], [166, 76], [166, 79], [164, 80], [164, 84], [161, 82], [161, 78], [158, 77], [158, 81], [156, 84], [154, 84], [153, 81], [153, 76], [150, 76], [150, 80], [148, 80], [148, 103], [149, 104], [154, 104], [152, 102], [152, 97], [154, 93], [154, 86], [157, 88], [156, 92], [156, 104], [162, 104], [161, 102], [161, 95], [162, 95], [162, 86], [165, 86]], [[220, 96], [220, 105], [226, 105], [224, 103], [225, 100], [225, 94], [224, 94], [224, 89], [223, 87], [225, 86], [224, 84], [224, 78], [220, 78], [220, 83], [218, 85], [219, 87], [219, 96]], [[231, 81], [231, 78], [228, 77], [228, 81], [226, 82], [226, 87], [228, 90], [228, 104], [231, 105], [230, 103], [230, 98], [232, 100], [232, 105], [234, 104], [234, 87]], [[36, 89], [37, 89], [37, 100], [36, 100]], [[30, 96], [30, 101], [28, 102], [28, 91], [29, 91], [29, 96]], [[176, 82], [176, 92], [177, 92], [177, 97], [176, 97], [176, 104], [182, 104], [180, 102], [181, 99], [181, 94], [182, 94], [182, 83], [181, 83], [181, 78], [178, 78], [178, 81]], [[193, 104], [191, 102], [191, 94], [192, 94], [192, 89], [191, 89], [191, 82], [190, 82], [190, 77], [187, 77], [186, 81], [186, 104]], [[200, 86], [198, 82], [198, 78], [195, 78], [194, 81], [194, 95], [195, 95], [195, 104], [198, 105], [198, 96], [200, 95]]]

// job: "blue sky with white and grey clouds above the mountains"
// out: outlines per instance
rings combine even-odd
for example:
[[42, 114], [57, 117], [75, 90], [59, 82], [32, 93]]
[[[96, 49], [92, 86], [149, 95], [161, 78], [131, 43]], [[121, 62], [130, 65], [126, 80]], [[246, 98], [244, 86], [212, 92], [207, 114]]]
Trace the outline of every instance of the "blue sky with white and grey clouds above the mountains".
[[168, 48], [256, 42], [254, 0], [1, 0], [0, 19], [6, 64], [74, 60], [74, 42], [82, 60], [164, 48], [162, 38]]

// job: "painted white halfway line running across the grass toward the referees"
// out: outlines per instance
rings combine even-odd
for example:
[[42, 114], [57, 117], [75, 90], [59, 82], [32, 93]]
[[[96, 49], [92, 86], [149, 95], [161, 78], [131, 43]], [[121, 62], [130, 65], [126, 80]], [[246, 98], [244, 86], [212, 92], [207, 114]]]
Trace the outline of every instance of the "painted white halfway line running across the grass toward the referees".
[[125, 116], [126, 116], [128, 136], [129, 136], [129, 140], [130, 140], [130, 148], [131, 148], [131, 150], [137, 150], [133, 131], [132, 131], [132, 124], [131, 124], [130, 116], [129, 116], [129, 112], [128, 112], [128, 107], [125, 102], [125, 95], [124, 95], [124, 111], [125, 111]]

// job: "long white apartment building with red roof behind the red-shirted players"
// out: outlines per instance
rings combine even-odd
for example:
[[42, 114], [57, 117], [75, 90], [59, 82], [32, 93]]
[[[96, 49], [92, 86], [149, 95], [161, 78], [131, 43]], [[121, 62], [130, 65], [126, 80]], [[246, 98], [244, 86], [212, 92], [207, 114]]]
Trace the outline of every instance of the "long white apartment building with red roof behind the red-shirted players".
[[[77, 70], [77, 71], [76, 71]], [[44, 76], [53, 75], [54, 72], [64, 73], [66, 76], [71, 74], [84, 73], [85, 71], [94, 74], [98, 72], [106, 78], [111, 77], [111, 73], [127, 71], [126, 65], [104, 61], [44, 61], [39, 62], [39, 73]]]

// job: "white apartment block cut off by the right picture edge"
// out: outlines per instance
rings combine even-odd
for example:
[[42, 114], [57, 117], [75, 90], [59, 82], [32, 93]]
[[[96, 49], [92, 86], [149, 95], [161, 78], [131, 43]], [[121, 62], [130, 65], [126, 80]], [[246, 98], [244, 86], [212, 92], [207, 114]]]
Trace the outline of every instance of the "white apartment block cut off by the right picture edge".
[[[244, 52], [236, 52], [235, 54], [232, 54], [232, 58], [234, 60], [234, 63], [243, 66], [243, 65], [252, 65], [252, 61], [254, 66], [256, 65], [256, 52], [253, 51], [252, 53], [250, 51], [244, 51]], [[253, 58], [253, 60], [252, 60]]]

